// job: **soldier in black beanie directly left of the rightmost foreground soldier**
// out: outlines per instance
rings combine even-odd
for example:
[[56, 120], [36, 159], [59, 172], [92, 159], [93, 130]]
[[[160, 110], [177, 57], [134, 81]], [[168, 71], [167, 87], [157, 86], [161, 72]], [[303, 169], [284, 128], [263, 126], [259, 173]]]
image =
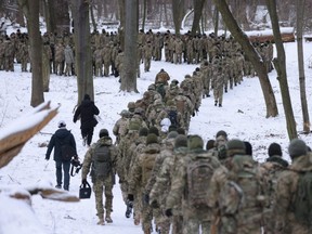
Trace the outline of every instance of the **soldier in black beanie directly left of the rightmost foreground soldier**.
[[269, 196], [269, 207], [264, 212], [264, 231], [265, 234], [274, 234], [274, 217], [272, 213], [273, 203], [275, 200], [276, 183], [277, 179], [283, 171], [288, 167], [288, 161], [282, 158], [282, 148], [277, 143], [270, 144], [268, 148], [269, 158], [266, 161], [261, 164], [262, 173], [266, 184], [265, 187]]

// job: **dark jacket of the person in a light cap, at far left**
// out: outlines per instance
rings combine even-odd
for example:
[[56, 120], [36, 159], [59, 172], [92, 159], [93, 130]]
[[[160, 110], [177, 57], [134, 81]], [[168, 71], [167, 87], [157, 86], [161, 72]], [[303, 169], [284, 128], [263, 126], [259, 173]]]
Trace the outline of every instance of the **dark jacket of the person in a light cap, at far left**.
[[[74, 135], [70, 131], [68, 131], [66, 128], [60, 128], [55, 131], [55, 133], [52, 135], [47, 154], [46, 159], [50, 159], [51, 152], [54, 147], [54, 160], [62, 160], [62, 153], [61, 153], [61, 146], [62, 144], [69, 144], [72, 147], [76, 150], [76, 141]], [[77, 152], [77, 150], [76, 150]]]

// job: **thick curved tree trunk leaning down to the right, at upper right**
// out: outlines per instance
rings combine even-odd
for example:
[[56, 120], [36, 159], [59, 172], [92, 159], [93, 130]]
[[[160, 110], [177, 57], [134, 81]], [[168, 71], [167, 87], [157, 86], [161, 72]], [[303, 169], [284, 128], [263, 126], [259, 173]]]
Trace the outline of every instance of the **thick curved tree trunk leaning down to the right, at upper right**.
[[237, 22], [233, 17], [226, 1], [225, 0], [213, 0], [213, 1], [218, 10], [220, 11], [223, 22], [226, 24], [226, 27], [229, 28], [235, 40], [238, 41], [238, 43], [240, 44], [244, 52], [248, 56], [249, 61], [252, 63], [255, 70], [259, 76], [259, 81], [261, 84], [266, 106], [266, 117], [277, 116], [278, 110], [276, 100], [263, 62], [261, 61], [255, 48], [251, 46], [248, 37], [238, 27]]

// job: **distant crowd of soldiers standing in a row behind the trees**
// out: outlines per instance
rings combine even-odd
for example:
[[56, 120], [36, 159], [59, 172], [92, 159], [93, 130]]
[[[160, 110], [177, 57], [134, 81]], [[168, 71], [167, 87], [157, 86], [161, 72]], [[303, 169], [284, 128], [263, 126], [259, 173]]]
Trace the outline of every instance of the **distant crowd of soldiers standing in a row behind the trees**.
[[[94, 76], [109, 75], [119, 76], [122, 70], [123, 52], [120, 48], [120, 34], [108, 32], [103, 29], [101, 32], [93, 31], [90, 36], [90, 47], [92, 51], [92, 67]], [[28, 35], [20, 29], [11, 35], [0, 36], [0, 69], [14, 72], [14, 63], [21, 63], [22, 72], [31, 70], [29, 67], [29, 42]], [[75, 42], [74, 35], [64, 31], [44, 32], [42, 35], [43, 44], [43, 66], [47, 66], [50, 74], [58, 76], [75, 75]], [[264, 62], [268, 72], [273, 67], [273, 46], [270, 41], [253, 42]], [[164, 53], [164, 55], [162, 55]], [[138, 77], [140, 77], [140, 64], [144, 63], [144, 72], [150, 72], [152, 61], [160, 61], [174, 64], [200, 64], [204, 61], [213, 63], [213, 60], [221, 60], [231, 68], [229, 76], [239, 76], [242, 69], [245, 76], [253, 76], [255, 70], [248, 58], [242, 52], [240, 46], [233, 37], [216, 36], [213, 32], [197, 34], [191, 32], [177, 36], [170, 30], [165, 32], [150, 29], [144, 32], [140, 30], [138, 35]], [[231, 75], [230, 73], [234, 73]], [[48, 82], [48, 81], [47, 81]], [[49, 83], [47, 84], [49, 88]], [[48, 89], [47, 89], [48, 90]]]

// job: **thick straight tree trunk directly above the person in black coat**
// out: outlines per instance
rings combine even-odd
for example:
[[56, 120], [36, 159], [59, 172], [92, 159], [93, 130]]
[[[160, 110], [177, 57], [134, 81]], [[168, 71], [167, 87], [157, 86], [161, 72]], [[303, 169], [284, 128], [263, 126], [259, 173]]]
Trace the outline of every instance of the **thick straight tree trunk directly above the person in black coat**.
[[94, 100], [89, 6], [89, 3], [84, 0], [72, 0], [78, 103], [82, 100], [84, 94], [89, 94], [91, 99]]

